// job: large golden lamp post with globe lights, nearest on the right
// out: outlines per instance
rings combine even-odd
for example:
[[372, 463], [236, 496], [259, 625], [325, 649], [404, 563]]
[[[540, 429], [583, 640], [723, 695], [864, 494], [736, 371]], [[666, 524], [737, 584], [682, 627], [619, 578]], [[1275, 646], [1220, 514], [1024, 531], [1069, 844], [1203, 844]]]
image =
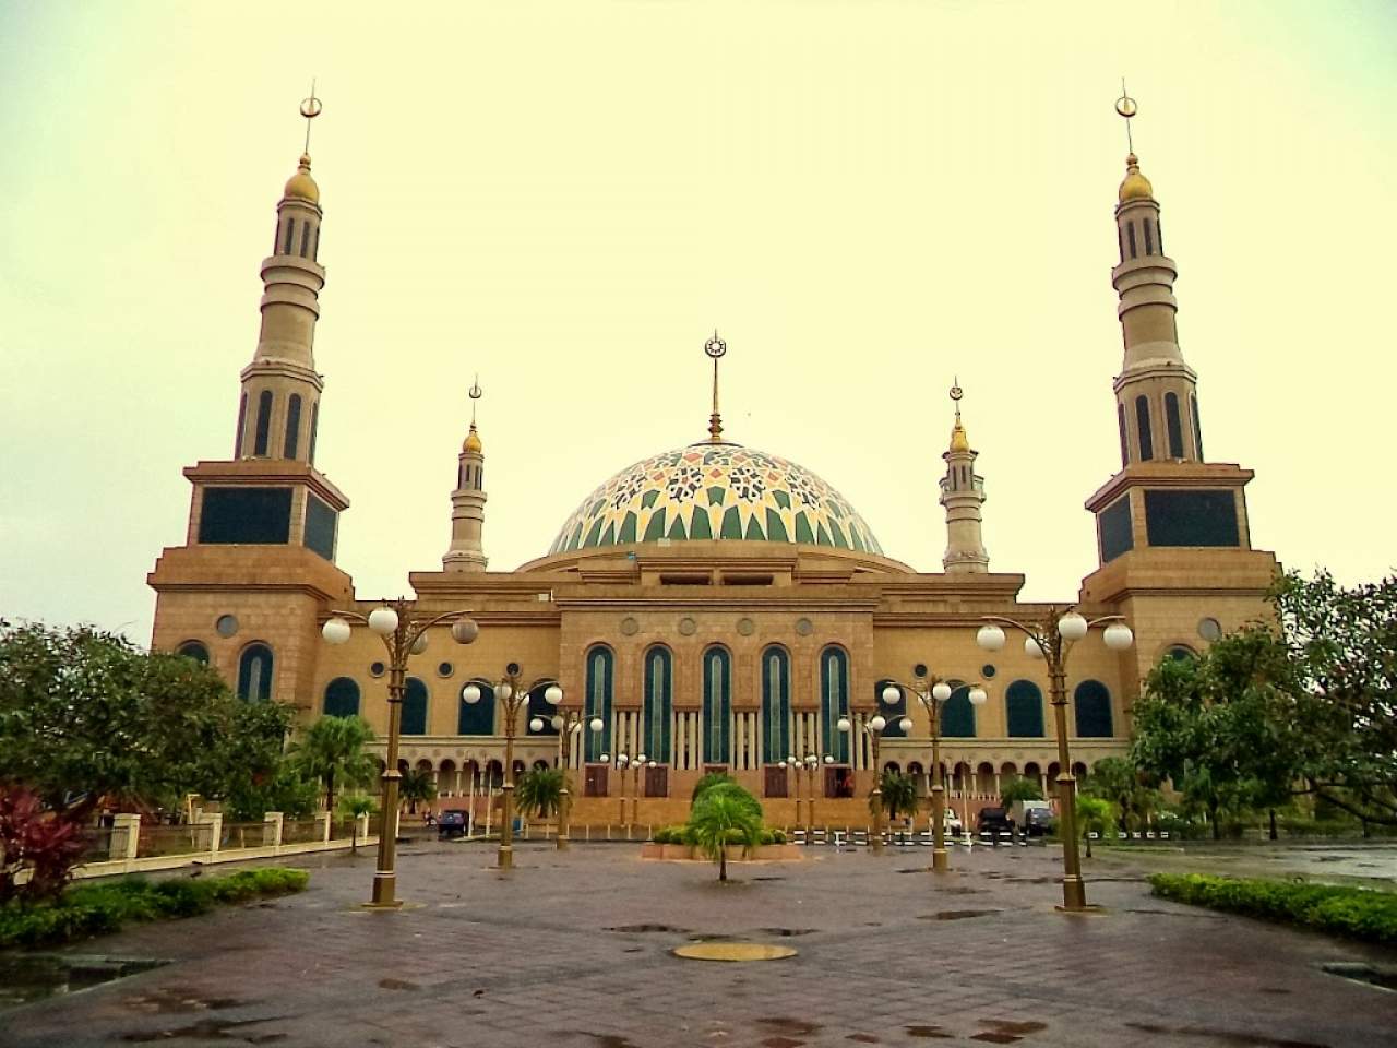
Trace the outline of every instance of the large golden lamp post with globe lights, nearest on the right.
[[1106, 623], [1102, 640], [1112, 651], [1125, 651], [1134, 643], [1134, 634], [1122, 615], [1102, 615], [1087, 619], [1073, 609], [1059, 615], [1048, 608], [1038, 622], [1023, 623], [1002, 615], [983, 616], [985, 625], [975, 641], [986, 651], [1004, 647], [1004, 630], [1013, 626], [1024, 634], [1024, 653], [1048, 664], [1052, 694], [1053, 727], [1058, 732], [1058, 824], [1062, 826], [1062, 908], [1069, 912], [1090, 910], [1087, 886], [1081, 879], [1081, 855], [1077, 847], [1077, 777], [1071, 774], [1071, 755], [1067, 752], [1067, 655], [1073, 646], [1087, 636], [1092, 626]]

